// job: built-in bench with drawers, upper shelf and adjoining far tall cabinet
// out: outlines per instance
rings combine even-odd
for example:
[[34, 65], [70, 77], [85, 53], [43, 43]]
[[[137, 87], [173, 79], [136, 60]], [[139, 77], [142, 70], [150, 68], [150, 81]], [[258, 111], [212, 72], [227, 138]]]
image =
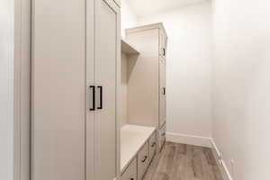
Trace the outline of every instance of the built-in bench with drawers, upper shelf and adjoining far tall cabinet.
[[163, 23], [121, 40], [121, 180], [142, 180], [166, 141], [166, 41]]

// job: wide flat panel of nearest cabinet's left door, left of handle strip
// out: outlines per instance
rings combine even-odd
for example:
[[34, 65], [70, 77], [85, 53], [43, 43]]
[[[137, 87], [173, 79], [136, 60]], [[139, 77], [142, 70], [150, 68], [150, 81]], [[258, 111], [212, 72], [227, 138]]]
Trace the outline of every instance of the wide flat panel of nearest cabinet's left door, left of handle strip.
[[85, 180], [85, 0], [31, 15], [31, 179]]

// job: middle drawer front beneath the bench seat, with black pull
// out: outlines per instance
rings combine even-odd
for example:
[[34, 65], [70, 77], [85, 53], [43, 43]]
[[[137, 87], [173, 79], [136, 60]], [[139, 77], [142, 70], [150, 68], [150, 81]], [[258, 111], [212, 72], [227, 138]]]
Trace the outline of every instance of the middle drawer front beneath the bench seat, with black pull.
[[139, 150], [138, 154], [138, 180], [141, 180], [145, 171], [147, 170], [149, 160], [148, 160], [148, 142], [143, 145]]

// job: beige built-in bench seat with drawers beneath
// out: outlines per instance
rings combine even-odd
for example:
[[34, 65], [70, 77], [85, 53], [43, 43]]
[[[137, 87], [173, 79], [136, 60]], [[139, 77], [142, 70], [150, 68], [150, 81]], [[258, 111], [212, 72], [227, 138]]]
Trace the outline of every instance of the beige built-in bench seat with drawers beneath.
[[[123, 177], [135, 176], [130, 175], [133, 159], [138, 163], [138, 171], [136, 171], [136, 178], [139, 180], [148, 169], [151, 159], [155, 155], [156, 129], [153, 127], [124, 125], [121, 127], [121, 180]], [[153, 146], [154, 144], [154, 146]], [[153, 148], [149, 148], [150, 145]], [[136, 167], [137, 167], [136, 166]], [[134, 172], [134, 171], [132, 171]], [[138, 175], [137, 175], [138, 172]], [[132, 177], [134, 178], [134, 177]], [[128, 179], [130, 180], [130, 179]]]

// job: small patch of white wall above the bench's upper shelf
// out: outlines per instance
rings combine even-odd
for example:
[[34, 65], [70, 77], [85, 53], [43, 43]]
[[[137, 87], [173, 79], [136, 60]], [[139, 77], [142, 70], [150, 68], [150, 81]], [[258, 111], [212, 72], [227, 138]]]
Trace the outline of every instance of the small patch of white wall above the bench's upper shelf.
[[137, 15], [133, 13], [126, 0], [121, 0], [121, 36], [125, 37], [125, 29], [137, 24]]

